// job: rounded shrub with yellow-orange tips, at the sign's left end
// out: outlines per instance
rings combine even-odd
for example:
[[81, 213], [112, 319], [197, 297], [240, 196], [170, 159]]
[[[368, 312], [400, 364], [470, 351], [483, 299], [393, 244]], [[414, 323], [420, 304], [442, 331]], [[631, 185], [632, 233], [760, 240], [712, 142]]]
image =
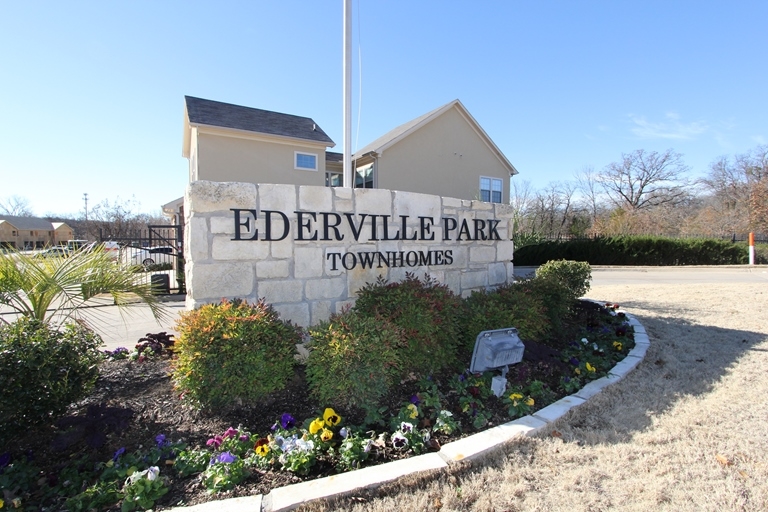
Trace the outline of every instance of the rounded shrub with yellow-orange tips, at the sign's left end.
[[294, 375], [301, 330], [263, 299], [207, 304], [182, 314], [177, 328], [174, 384], [197, 406], [253, 404]]

